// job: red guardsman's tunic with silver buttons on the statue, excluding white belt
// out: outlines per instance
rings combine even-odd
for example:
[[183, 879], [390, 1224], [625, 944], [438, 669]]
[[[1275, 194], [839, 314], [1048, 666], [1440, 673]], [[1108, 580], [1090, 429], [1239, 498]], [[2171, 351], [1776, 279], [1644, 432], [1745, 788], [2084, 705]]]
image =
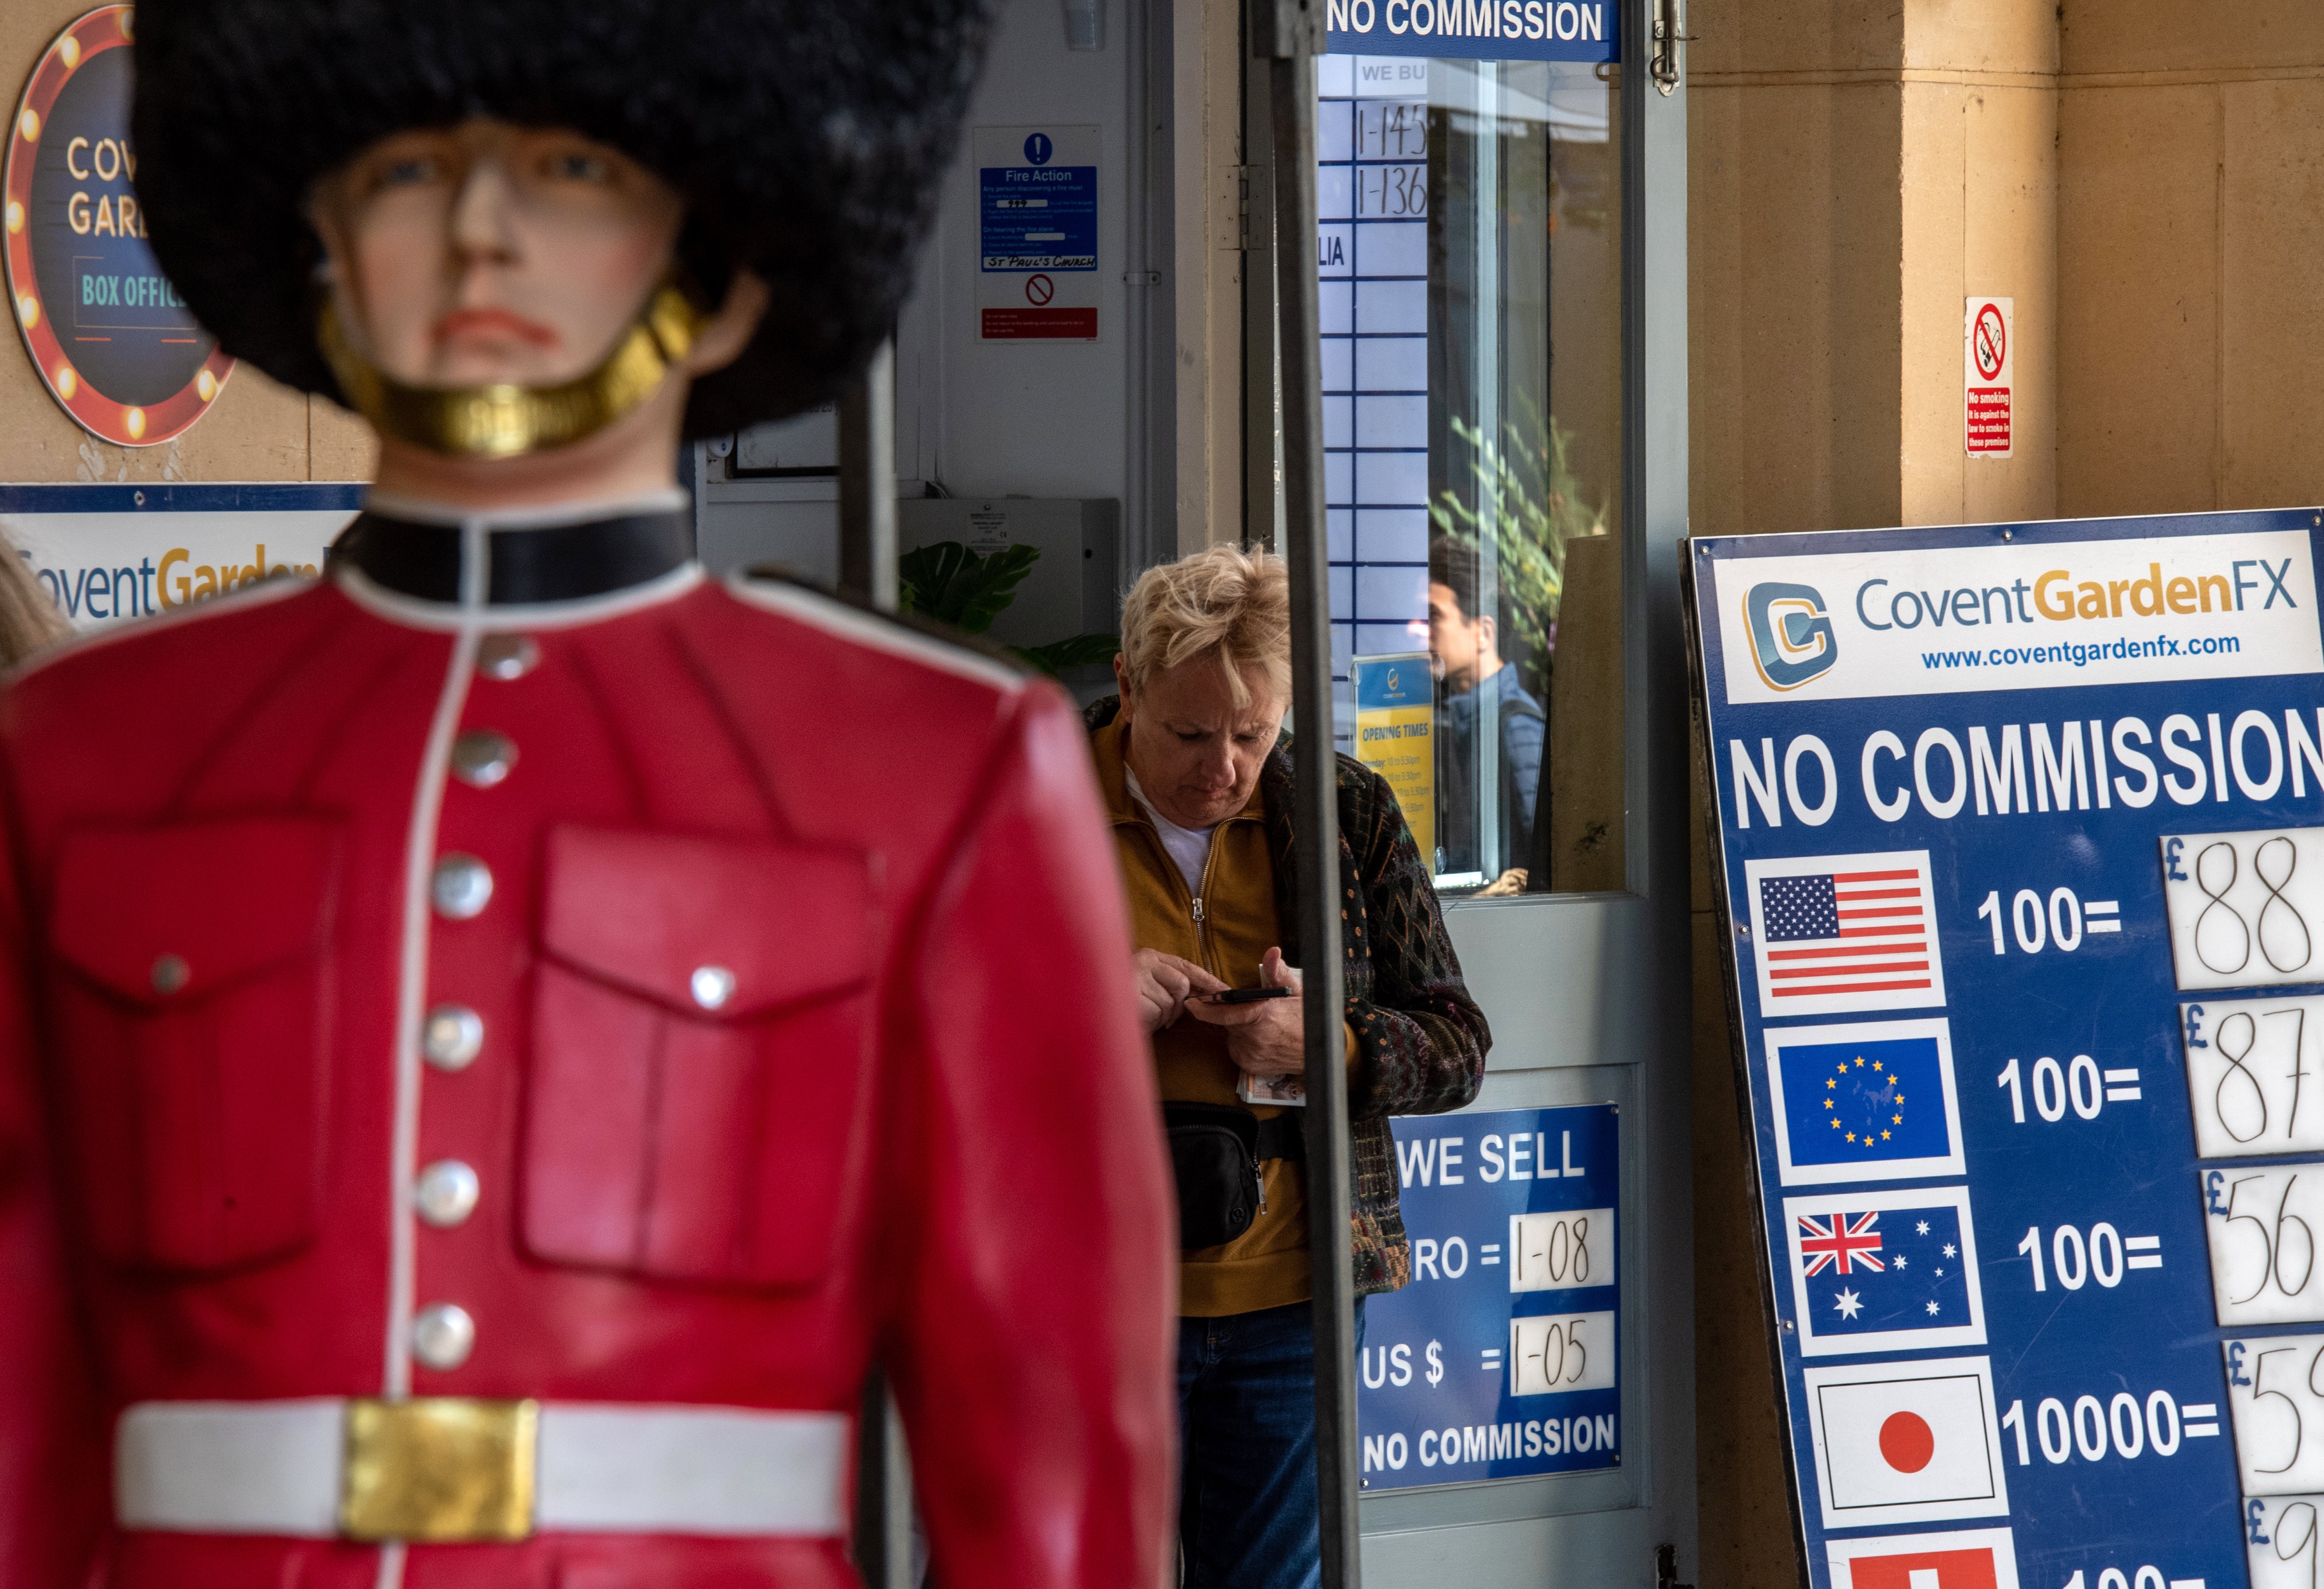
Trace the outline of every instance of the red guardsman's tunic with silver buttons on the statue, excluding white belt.
[[[837, 1538], [121, 1529], [109, 1445], [177, 1401], [846, 1412], [874, 1343], [946, 1589], [1160, 1582], [1171, 1215], [1055, 690], [693, 567], [467, 616], [342, 578], [67, 648], [0, 776], [0, 1584], [846, 1584]], [[437, 1164], [474, 1199], [430, 1224]]]

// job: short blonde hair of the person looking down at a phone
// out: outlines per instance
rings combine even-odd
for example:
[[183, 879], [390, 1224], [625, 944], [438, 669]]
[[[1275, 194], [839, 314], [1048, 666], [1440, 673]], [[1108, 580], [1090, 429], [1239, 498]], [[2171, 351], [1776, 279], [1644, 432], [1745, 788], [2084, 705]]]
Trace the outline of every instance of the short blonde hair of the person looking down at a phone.
[[1122, 667], [1129, 690], [1167, 669], [1218, 657], [1236, 709], [1250, 704], [1246, 667], [1278, 702], [1292, 695], [1292, 581], [1283, 558], [1208, 546], [1139, 574], [1122, 602]]

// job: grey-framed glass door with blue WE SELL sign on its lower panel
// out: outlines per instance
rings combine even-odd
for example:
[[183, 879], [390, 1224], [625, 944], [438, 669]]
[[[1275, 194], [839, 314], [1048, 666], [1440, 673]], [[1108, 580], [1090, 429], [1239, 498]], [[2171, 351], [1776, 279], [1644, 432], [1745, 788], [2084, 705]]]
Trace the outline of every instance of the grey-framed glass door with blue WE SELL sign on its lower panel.
[[1648, 1589], [1694, 1563], [1685, 93], [1643, 0], [1327, 14], [1334, 739], [1494, 1031], [1471, 1108], [1394, 1127], [1364, 1582]]

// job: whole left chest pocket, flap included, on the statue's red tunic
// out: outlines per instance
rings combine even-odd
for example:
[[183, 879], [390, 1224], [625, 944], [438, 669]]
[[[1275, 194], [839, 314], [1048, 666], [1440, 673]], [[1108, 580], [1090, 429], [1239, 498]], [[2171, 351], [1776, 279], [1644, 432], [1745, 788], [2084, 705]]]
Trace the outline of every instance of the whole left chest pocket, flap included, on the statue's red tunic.
[[53, 1059], [114, 1264], [205, 1273], [314, 1241], [339, 853], [325, 818], [65, 839]]

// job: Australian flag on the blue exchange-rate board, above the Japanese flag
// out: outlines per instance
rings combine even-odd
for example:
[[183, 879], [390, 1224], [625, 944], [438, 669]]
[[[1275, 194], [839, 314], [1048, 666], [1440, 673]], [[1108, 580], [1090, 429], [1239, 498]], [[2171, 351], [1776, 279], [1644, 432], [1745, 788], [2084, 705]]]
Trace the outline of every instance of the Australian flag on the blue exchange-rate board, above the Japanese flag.
[[1817, 1340], [1975, 1322], [1959, 1206], [1871, 1210], [1850, 1208], [1845, 1194], [1824, 1213], [1803, 1203], [1792, 1199], [1789, 1210]]

